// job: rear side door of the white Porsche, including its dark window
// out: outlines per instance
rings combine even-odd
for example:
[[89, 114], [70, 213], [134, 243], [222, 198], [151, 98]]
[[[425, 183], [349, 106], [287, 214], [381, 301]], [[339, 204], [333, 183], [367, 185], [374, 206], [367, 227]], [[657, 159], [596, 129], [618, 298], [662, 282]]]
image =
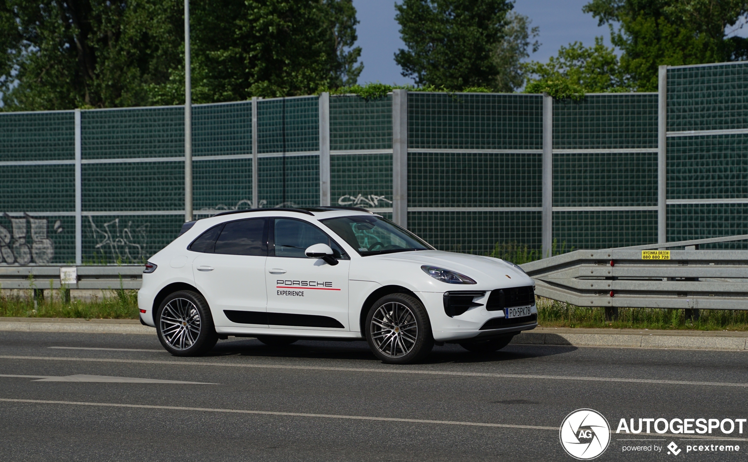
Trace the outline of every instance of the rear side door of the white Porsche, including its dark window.
[[216, 326], [268, 327], [267, 233], [266, 218], [229, 221], [190, 245], [190, 250], [200, 252], [192, 272]]

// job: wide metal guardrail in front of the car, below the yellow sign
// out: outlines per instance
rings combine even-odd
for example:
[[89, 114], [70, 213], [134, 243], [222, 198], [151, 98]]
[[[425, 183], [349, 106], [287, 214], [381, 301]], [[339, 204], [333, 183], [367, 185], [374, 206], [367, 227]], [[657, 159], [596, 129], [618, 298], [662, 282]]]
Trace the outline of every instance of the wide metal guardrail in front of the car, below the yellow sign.
[[[745, 239], [574, 250], [521, 267], [536, 281], [536, 295], [577, 307], [748, 309], [748, 250], [699, 250], [700, 244]], [[643, 259], [647, 249], [668, 247], [686, 250]]]

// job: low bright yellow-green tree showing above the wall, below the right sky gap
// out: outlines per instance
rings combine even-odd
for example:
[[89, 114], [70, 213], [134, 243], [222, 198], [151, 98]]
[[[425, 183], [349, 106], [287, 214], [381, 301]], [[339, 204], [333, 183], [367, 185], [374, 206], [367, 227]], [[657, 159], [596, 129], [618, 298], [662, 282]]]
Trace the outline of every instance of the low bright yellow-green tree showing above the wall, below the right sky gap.
[[628, 77], [622, 72], [618, 56], [595, 37], [595, 46], [581, 42], [562, 46], [548, 63], [525, 64], [528, 74], [527, 93], [549, 93], [562, 98], [583, 93], [631, 91]]

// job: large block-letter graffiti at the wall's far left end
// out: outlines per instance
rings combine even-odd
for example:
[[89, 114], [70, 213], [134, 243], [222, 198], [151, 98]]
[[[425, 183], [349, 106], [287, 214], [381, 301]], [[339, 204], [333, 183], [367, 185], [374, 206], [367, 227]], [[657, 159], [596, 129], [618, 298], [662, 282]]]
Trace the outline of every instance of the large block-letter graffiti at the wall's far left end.
[[[48, 220], [34, 218], [26, 214], [25, 217], [11, 217], [10, 230], [0, 226], [0, 262], [6, 265], [49, 265], [55, 257], [55, 244], [47, 237]], [[31, 236], [28, 235], [29, 230]], [[61, 221], [55, 221], [52, 228], [55, 232], [62, 232]], [[29, 239], [29, 237], [31, 237]]]

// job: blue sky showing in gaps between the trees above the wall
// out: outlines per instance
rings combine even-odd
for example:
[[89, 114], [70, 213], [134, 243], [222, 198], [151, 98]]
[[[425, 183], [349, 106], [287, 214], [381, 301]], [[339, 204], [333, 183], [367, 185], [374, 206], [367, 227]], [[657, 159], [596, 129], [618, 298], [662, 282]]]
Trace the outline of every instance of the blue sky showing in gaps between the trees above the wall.
[[[358, 82], [380, 81], [383, 84], [412, 84], [413, 81], [400, 75], [394, 54], [405, 48], [400, 40], [399, 25], [395, 22], [393, 0], [353, 0], [358, 11], [358, 46], [361, 46], [361, 61], [364, 72]], [[586, 46], [595, 43], [595, 37], [603, 35], [610, 46], [607, 25], [598, 27], [598, 22], [589, 14], [582, 13], [589, 0], [516, 0], [515, 11], [530, 16], [533, 26], [540, 27], [539, 51], [530, 56], [536, 61], [547, 61], [556, 55], [562, 45], [574, 40]]]

